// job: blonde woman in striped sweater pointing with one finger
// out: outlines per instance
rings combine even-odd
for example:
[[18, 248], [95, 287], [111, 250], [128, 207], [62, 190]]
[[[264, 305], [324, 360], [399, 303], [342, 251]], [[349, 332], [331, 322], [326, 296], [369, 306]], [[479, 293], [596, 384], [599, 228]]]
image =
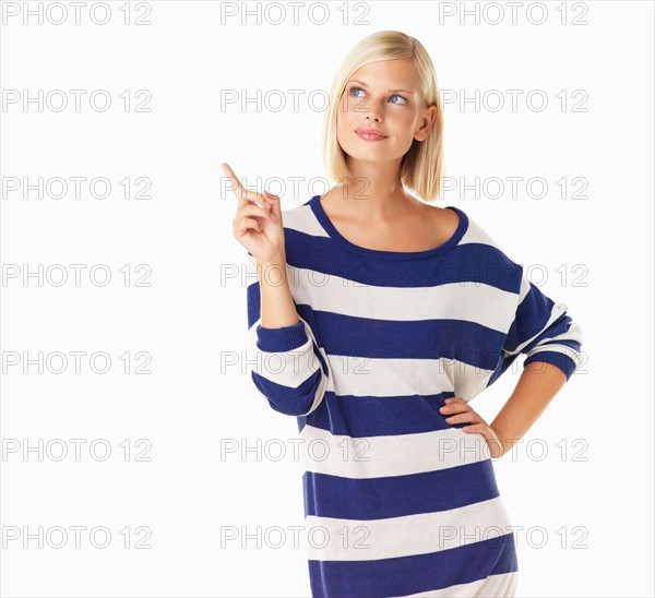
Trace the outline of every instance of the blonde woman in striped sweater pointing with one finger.
[[[580, 325], [464, 211], [426, 203], [440, 191], [443, 115], [417, 39], [361, 40], [330, 98], [337, 184], [284, 225], [279, 198], [224, 165], [259, 278], [247, 290], [252, 381], [306, 441], [312, 594], [514, 596], [491, 459], [579, 368]], [[520, 354], [516, 390], [489, 424], [471, 400]]]

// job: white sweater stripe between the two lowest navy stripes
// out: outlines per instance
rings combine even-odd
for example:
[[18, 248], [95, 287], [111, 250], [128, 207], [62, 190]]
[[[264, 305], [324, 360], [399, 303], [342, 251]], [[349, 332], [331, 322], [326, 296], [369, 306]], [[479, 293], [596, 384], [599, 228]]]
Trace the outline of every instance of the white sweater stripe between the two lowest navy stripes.
[[513, 531], [500, 497], [458, 509], [384, 519], [355, 521], [308, 515], [309, 558], [373, 561], [439, 552]]

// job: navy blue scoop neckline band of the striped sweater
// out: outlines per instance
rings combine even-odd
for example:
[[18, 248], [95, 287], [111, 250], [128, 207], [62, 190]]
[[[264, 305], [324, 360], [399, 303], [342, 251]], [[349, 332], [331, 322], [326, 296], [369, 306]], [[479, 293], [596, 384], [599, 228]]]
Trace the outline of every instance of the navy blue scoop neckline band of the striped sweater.
[[444, 208], [454, 211], [460, 216], [460, 222], [455, 232], [453, 232], [451, 238], [441, 243], [439, 247], [425, 249], [422, 251], [383, 251], [379, 249], [368, 249], [366, 247], [352, 243], [336, 229], [323, 210], [323, 205], [321, 204], [321, 195], [314, 195], [311, 200], [309, 200], [309, 206], [311, 207], [311, 211], [319, 223], [321, 223], [323, 228], [327, 231], [327, 235], [330, 235], [334, 241], [343, 246], [348, 251], [381, 261], [425, 260], [428, 258], [443, 255], [458, 244], [458, 242], [462, 240], [462, 237], [464, 237], [464, 234], [468, 229], [468, 216], [466, 216], [466, 214], [458, 207], [455, 207], [454, 205], [446, 205]]

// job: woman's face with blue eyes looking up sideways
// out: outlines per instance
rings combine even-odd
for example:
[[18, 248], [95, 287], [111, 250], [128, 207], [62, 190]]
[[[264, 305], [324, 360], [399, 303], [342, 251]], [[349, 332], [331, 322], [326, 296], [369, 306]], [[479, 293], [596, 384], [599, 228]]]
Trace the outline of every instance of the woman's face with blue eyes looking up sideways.
[[[355, 71], [346, 83], [336, 111], [337, 140], [357, 160], [401, 159], [414, 139], [428, 136], [436, 110], [428, 109], [420, 98], [413, 60], [372, 62]], [[384, 139], [368, 141], [356, 132], [369, 128], [382, 132]]]

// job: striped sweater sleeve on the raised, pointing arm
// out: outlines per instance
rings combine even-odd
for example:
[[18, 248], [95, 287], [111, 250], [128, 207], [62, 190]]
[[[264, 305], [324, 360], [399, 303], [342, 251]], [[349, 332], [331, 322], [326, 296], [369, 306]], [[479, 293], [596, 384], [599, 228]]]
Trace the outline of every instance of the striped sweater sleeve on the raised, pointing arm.
[[[257, 275], [257, 262], [248, 252], [249, 272]], [[325, 395], [329, 369], [310, 326], [298, 316], [290, 326], [261, 325], [259, 280], [247, 288], [248, 361], [259, 394], [276, 411], [307, 416]]]

